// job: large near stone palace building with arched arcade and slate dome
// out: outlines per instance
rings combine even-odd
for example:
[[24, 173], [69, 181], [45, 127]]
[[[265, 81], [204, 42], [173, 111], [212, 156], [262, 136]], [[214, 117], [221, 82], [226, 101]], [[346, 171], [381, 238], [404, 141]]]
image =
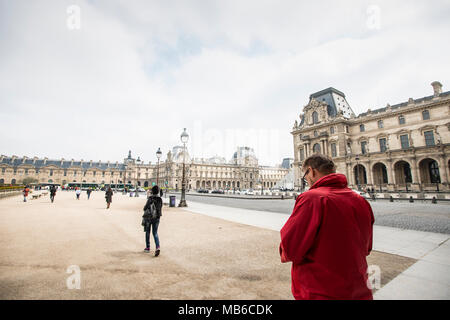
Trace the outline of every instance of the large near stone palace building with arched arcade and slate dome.
[[433, 95], [358, 116], [334, 88], [311, 94], [291, 131], [296, 187], [302, 188], [302, 162], [318, 152], [334, 160], [353, 189], [449, 191], [450, 91], [431, 85]]

